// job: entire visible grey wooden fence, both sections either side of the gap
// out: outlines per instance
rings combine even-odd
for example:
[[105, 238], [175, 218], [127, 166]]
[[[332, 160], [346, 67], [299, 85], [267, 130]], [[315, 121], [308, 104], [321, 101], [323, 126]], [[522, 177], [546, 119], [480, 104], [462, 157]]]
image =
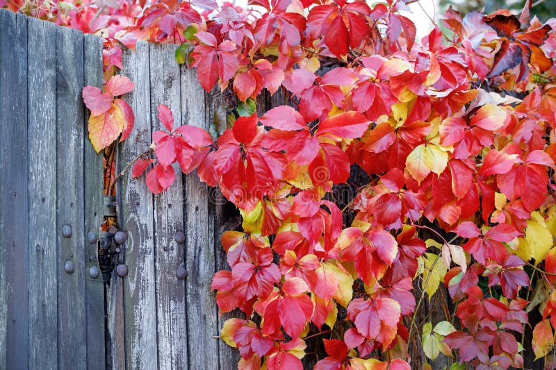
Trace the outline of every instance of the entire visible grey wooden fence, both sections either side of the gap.
[[[139, 42], [124, 53], [136, 126], [118, 172], [162, 128], [158, 103], [177, 125], [206, 127], [222, 101], [174, 49]], [[219, 317], [210, 285], [227, 267], [220, 235], [239, 222], [195, 174], [177, 171], [160, 196], [124, 176], [117, 214], [128, 239], [115, 263], [129, 274], [112, 271], [109, 285], [89, 274], [111, 213], [81, 100], [83, 86], [101, 86], [101, 53], [99, 37], [0, 10], [0, 369], [233, 369], [237, 351], [214, 337], [229, 315]]]

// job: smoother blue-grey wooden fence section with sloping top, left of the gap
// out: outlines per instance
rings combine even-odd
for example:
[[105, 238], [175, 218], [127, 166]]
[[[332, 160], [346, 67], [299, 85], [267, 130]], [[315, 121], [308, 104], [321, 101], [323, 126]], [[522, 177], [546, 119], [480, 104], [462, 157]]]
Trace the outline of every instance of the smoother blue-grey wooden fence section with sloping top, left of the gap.
[[0, 10], [0, 369], [104, 368], [84, 236], [101, 219], [102, 161], [81, 100], [101, 83], [99, 37]]

